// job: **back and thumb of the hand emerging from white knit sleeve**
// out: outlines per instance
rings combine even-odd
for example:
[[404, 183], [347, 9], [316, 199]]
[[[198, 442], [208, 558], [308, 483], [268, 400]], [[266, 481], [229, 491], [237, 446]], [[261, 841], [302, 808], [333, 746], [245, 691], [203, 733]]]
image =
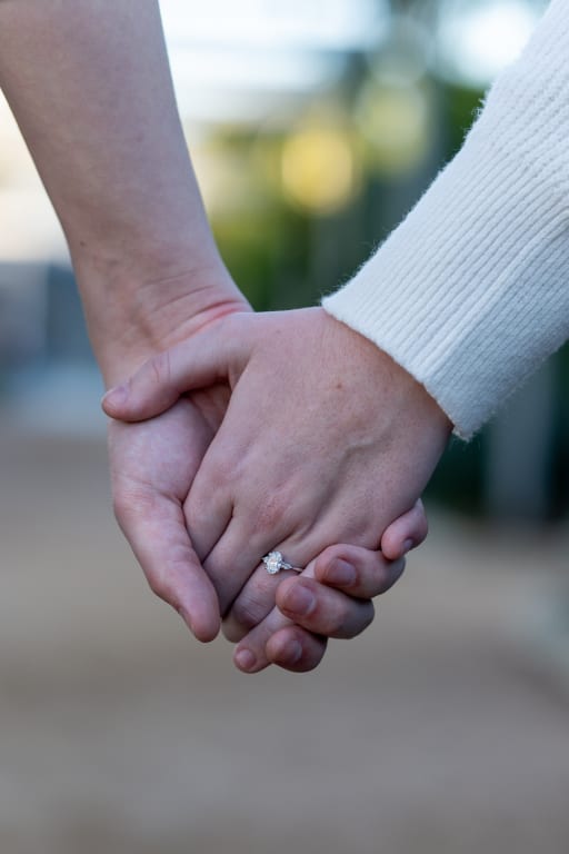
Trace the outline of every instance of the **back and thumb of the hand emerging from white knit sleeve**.
[[298, 566], [338, 540], [377, 548], [450, 433], [412, 377], [320, 309], [214, 320], [103, 407], [143, 419], [218, 381], [231, 401], [184, 514], [222, 613], [272, 548]]

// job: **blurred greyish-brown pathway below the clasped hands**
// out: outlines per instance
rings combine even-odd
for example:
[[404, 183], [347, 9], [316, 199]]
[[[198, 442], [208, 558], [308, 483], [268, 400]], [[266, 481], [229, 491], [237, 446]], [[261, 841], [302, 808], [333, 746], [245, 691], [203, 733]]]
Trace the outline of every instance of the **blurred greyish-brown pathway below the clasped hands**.
[[365, 637], [247, 677], [147, 593], [99, 440], [0, 463], [2, 854], [567, 854], [569, 535], [433, 519]]

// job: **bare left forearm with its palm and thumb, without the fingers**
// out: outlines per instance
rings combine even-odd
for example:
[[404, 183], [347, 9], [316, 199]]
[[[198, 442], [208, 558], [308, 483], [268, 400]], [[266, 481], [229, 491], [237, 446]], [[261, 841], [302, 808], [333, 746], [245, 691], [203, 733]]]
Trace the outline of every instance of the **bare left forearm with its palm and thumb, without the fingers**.
[[[156, 0], [2, 0], [0, 86], [64, 230], [108, 386], [249, 310], [207, 222]], [[227, 383], [213, 384], [150, 424], [109, 430], [119, 524], [201, 640], [219, 630], [218, 585], [183, 504], [227, 404]], [[234, 594], [232, 583], [223, 609]]]

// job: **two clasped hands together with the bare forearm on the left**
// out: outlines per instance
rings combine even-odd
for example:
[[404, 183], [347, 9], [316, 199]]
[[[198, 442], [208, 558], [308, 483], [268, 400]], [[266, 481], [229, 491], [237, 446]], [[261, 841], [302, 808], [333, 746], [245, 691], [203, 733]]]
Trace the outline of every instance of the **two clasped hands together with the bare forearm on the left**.
[[[0, 3], [0, 86], [104, 381], [131, 376], [104, 410], [117, 517], [152, 589], [201, 640], [222, 620], [243, 671], [315, 667], [425, 538], [416, 503], [448, 419], [323, 310], [249, 310], [201, 203], [157, 0]], [[274, 549], [303, 572], [269, 575]]]

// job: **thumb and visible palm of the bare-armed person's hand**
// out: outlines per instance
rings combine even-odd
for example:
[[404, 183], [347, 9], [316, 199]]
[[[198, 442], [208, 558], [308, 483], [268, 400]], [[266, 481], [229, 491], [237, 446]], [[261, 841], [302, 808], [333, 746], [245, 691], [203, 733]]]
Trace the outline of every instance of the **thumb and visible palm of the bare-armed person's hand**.
[[201, 568], [183, 503], [227, 405], [217, 387], [183, 398], [158, 418], [112, 421], [109, 456], [117, 519], [150, 587], [202, 640], [219, 629], [219, 603]]

